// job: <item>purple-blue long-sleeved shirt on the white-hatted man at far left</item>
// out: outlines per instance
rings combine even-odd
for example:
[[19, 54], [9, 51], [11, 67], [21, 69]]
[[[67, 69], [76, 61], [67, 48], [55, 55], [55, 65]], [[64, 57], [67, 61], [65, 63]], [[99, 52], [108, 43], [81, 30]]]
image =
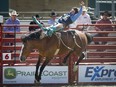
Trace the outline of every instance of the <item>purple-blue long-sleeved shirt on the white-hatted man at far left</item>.
[[[20, 24], [20, 21], [19, 21], [19, 19], [15, 19], [13, 21], [11, 18], [9, 18], [9, 19], [6, 20], [5, 24]], [[14, 31], [20, 32], [20, 27], [18, 27], [18, 26], [15, 26], [15, 27], [4, 27], [4, 31], [5, 32], [14, 32]]]

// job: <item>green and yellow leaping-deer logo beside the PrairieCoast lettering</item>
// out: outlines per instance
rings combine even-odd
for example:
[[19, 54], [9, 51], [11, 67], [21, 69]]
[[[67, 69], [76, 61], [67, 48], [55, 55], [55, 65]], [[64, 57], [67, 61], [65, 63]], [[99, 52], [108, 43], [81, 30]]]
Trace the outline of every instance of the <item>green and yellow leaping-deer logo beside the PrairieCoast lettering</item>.
[[15, 79], [16, 78], [16, 69], [15, 68], [6, 68], [4, 70], [4, 77], [6, 79]]

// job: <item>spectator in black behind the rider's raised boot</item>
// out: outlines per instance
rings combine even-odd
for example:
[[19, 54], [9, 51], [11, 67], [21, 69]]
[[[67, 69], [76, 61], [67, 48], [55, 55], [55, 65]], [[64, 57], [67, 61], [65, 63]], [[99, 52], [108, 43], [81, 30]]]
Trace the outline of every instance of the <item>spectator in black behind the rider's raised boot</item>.
[[[40, 17], [38, 14], [35, 15], [36, 19], [43, 25], [43, 22], [40, 21], [42, 17]], [[36, 22], [31, 21], [30, 25], [36, 25]], [[36, 31], [36, 29], [39, 29], [39, 26], [29, 26], [29, 32]]]

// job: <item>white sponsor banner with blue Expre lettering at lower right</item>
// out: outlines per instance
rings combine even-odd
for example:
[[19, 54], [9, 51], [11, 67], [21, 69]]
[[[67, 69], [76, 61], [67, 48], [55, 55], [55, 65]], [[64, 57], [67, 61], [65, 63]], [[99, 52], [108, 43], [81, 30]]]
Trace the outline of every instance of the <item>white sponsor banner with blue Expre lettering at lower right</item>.
[[79, 65], [78, 82], [116, 82], [116, 65]]

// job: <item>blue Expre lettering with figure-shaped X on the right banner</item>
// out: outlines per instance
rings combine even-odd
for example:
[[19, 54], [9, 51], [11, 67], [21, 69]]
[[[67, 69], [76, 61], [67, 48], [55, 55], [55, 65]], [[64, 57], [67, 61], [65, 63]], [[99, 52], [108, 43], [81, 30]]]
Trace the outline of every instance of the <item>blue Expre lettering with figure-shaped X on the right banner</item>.
[[107, 69], [105, 66], [87, 67], [85, 77], [91, 81], [112, 80], [116, 77], [116, 69]]

